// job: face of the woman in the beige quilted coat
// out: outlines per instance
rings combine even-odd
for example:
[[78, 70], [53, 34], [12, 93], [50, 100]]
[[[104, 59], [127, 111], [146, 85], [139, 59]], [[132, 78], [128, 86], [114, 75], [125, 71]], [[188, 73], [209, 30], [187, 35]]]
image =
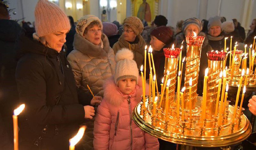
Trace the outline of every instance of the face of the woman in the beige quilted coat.
[[94, 25], [92, 28], [87, 30], [87, 33], [84, 33], [84, 37], [92, 44], [99, 45], [101, 41], [101, 34], [101, 28], [98, 25]]

